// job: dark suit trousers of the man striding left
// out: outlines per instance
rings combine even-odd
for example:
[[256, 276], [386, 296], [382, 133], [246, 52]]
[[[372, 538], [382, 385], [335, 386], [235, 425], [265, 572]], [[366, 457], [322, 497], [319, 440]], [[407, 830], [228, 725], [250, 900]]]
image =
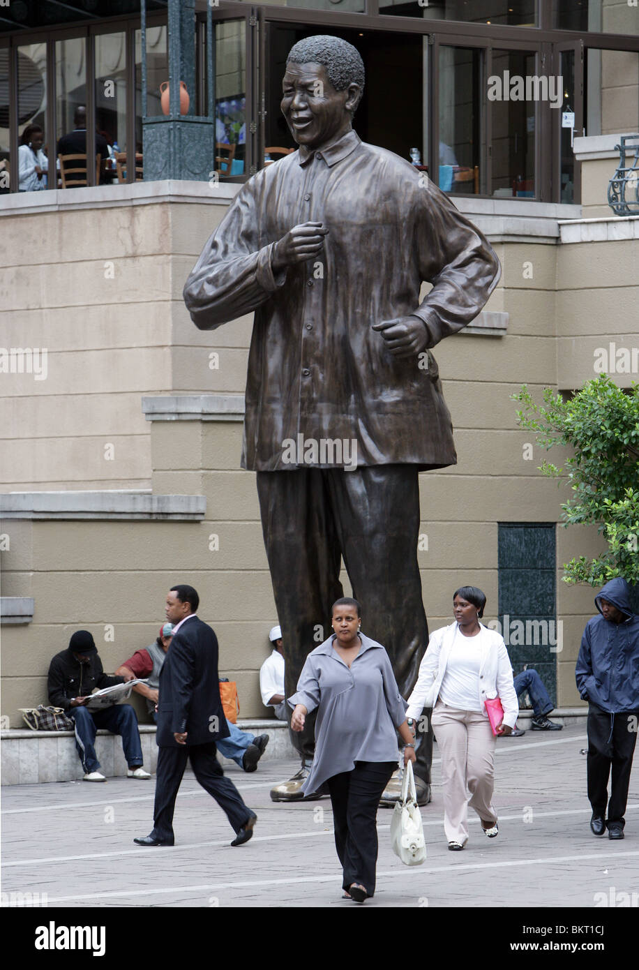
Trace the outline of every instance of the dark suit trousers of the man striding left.
[[158, 748], [153, 805], [153, 832], [156, 838], [173, 842], [173, 816], [187, 760], [205, 792], [212, 795], [226, 813], [236, 834], [248, 822], [250, 812], [233, 782], [226, 778], [222, 765], [215, 757], [215, 742], [182, 745], [179, 748]]

